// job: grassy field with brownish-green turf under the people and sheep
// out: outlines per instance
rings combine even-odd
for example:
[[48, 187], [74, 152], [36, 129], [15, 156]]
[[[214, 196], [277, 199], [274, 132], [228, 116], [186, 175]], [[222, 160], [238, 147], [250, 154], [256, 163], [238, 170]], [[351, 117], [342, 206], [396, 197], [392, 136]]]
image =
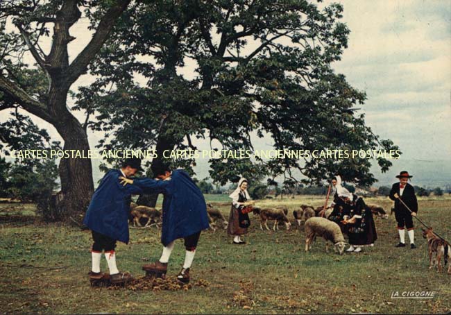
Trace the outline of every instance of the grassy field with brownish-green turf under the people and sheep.
[[[228, 201], [207, 196], [208, 201]], [[389, 210], [386, 198], [368, 198]], [[321, 205], [323, 198], [266, 200], [259, 205], [301, 203]], [[1, 210], [3, 217], [10, 210]], [[29, 215], [31, 206], [22, 210]], [[230, 206], [221, 210], [226, 216]], [[443, 237], [451, 239], [451, 198], [420, 198], [419, 216]], [[12, 210], [11, 210], [12, 211]], [[430, 314], [451, 311], [451, 275], [428, 269], [427, 243], [416, 224], [418, 248], [394, 248], [398, 243], [393, 216], [376, 219], [379, 239], [363, 253], [325, 253], [318, 239], [304, 252], [303, 230], [261, 231], [257, 218], [246, 236], [247, 245], [234, 246], [224, 230], [203, 232], [192, 268], [192, 282], [207, 287], [187, 291], [93, 289], [90, 232], [39, 221], [0, 220], [0, 313], [385, 313]], [[120, 270], [143, 275], [141, 265], [161, 253], [156, 228], [130, 229], [131, 243], [119, 244]], [[406, 239], [407, 235], [406, 235]], [[184, 258], [178, 241], [168, 275], [178, 273]], [[108, 271], [105, 259], [102, 269]], [[392, 299], [392, 291], [436, 291], [432, 299]]]

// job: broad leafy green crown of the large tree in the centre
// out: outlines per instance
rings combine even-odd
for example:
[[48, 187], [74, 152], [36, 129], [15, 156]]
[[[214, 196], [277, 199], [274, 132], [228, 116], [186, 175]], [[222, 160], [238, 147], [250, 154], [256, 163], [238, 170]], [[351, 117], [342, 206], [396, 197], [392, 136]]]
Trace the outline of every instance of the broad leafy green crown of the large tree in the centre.
[[[135, 3], [92, 63], [100, 78], [80, 90], [78, 106], [98, 113], [91, 127], [107, 132], [102, 147], [155, 147], [159, 157], [195, 148], [193, 137], [252, 150], [253, 133], [282, 150], [397, 149], [355, 113], [364, 92], [332, 69], [350, 32], [342, 10], [303, 0]], [[191, 74], [187, 65], [195, 65]], [[377, 162], [382, 171], [391, 166]], [[370, 166], [359, 157], [212, 159], [210, 174], [221, 184], [238, 174], [283, 175], [292, 185], [300, 174], [321, 182], [341, 173], [371, 185]]]

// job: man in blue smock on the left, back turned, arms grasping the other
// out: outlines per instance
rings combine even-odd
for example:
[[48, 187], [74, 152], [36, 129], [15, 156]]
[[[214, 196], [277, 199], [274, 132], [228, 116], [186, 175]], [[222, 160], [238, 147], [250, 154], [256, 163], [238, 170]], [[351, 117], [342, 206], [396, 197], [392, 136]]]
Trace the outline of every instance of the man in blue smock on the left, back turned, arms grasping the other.
[[101, 280], [103, 273], [100, 271], [102, 250], [110, 269], [110, 281], [113, 284], [130, 280], [130, 273], [121, 273], [116, 266], [116, 242], [122, 241], [128, 244], [128, 215], [130, 212], [130, 200], [132, 194], [142, 194], [142, 190], [136, 185], [124, 187], [119, 183], [119, 176], [133, 176], [141, 169], [141, 160], [131, 158], [124, 161], [121, 169], [112, 169], [103, 176], [99, 187], [92, 195], [90, 206], [87, 208], [85, 224], [92, 230], [92, 269], [91, 282]]

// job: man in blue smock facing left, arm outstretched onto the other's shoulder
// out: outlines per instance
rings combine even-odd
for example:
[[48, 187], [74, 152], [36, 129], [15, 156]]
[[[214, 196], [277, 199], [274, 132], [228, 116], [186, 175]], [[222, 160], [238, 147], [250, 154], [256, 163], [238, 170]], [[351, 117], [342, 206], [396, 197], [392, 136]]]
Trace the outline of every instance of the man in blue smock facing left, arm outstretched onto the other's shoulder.
[[189, 269], [192, 266], [196, 246], [201, 231], [208, 228], [207, 205], [200, 189], [186, 171], [171, 171], [167, 164], [155, 161], [151, 178], [121, 178], [123, 185], [136, 186], [147, 194], [163, 194], [163, 225], [161, 241], [163, 253], [157, 261], [142, 266], [144, 271], [164, 275], [176, 239], [185, 239], [185, 262], [177, 275], [180, 282], [189, 282]]

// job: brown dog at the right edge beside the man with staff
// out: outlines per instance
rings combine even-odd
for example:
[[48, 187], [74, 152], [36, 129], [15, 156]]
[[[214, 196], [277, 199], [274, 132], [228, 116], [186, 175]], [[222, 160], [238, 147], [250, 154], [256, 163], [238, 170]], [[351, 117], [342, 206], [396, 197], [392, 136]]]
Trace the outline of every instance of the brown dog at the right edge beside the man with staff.
[[[448, 262], [450, 258], [450, 244], [448, 244], [445, 240], [441, 239], [437, 235], [432, 232], [432, 228], [428, 228], [427, 230], [423, 230], [423, 238], [427, 239], [427, 252], [429, 253], [429, 269], [432, 269], [433, 266], [437, 266], [437, 271], [441, 272], [441, 258], [444, 257], [445, 264]], [[448, 266], [448, 274], [451, 273], [451, 265]]]

